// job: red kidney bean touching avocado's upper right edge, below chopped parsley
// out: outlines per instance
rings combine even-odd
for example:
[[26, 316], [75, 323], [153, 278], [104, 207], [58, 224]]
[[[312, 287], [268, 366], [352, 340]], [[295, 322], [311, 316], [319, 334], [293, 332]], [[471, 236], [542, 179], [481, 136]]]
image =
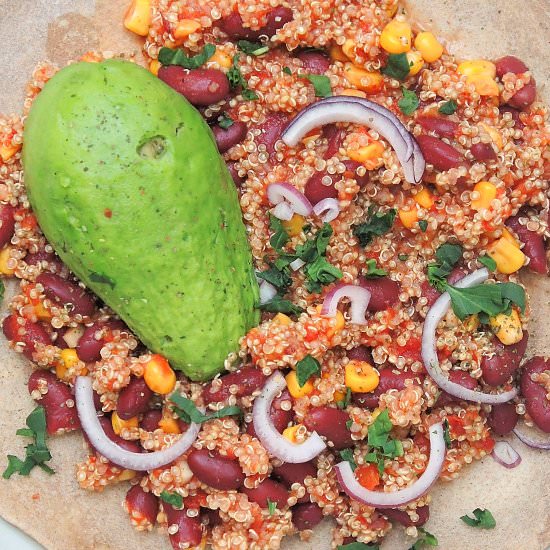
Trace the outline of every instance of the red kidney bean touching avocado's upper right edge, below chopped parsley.
[[187, 70], [178, 65], [168, 65], [159, 69], [158, 76], [193, 105], [217, 103], [230, 92], [229, 80], [218, 69]]

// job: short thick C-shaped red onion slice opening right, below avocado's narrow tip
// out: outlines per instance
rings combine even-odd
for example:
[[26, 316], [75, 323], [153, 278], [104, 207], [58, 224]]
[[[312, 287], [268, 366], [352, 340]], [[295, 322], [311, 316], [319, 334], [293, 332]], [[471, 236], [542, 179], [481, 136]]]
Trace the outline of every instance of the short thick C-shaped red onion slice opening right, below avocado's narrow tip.
[[284, 376], [275, 371], [265, 383], [262, 393], [256, 397], [252, 409], [254, 431], [268, 452], [284, 462], [300, 464], [309, 462], [325, 450], [325, 442], [317, 432], [313, 432], [303, 443], [292, 443], [283, 437], [271, 420], [273, 399], [286, 388]]

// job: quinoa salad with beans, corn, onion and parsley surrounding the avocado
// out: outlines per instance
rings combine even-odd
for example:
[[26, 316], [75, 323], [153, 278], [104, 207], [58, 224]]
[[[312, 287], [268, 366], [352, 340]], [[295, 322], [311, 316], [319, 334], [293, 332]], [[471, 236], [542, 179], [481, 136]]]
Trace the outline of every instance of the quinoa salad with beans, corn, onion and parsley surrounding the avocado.
[[212, 130], [261, 319], [193, 381], [64, 265], [23, 174], [27, 116], [60, 71], [41, 63], [22, 115], [0, 115], [0, 273], [19, 284], [2, 328], [36, 401], [4, 478], [53, 474], [47, 439], [82, 430], [76, 482], [126, 484], [128, 521], [166, 548], [277, 549], [325, 518], [334, 549], [384, 548], [392, 528], [436, 546], [436, 481], [490, 454], [517, 466], [511, 432], [550, 449], [550, 359], [524, 360], [519, 277], [549, 258], [530, 60], [456, 59], [394, 0], [133, 0], [122, 23]]

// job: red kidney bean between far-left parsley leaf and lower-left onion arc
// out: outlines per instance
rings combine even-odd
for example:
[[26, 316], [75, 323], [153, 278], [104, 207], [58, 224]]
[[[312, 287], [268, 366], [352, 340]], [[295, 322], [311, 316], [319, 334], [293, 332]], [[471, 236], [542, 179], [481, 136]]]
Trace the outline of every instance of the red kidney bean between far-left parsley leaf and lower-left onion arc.
[[[50, 435], [80, 427], [74, 395], [69, 386], [61, 382], [55, 374], [50, 371], [36, 370], [31, 374], [27, 386], [31, 394], [36, 390], [41, 391], [44, 386], [47, 389], [47, 392], [41, 394], [42, 397], [35, 401], [44, 407], [46, 428]], [[72, 406], [69, 407], [67, 402], [72, 402]]]

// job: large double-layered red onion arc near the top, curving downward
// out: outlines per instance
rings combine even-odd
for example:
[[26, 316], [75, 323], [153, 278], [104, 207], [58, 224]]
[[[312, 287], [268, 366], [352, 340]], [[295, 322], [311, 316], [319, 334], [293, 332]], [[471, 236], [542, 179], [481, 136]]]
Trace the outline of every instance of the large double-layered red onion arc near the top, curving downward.
[[360, 97], [335, 96], [303, 109], [287, 126], [281, 139], [295, 147], [314, 128], [335, 122], [354, 122], [373, 128], [393, 147], [409, 183], [422, 180], [426, 162], [416, 140], [388, 109]]

